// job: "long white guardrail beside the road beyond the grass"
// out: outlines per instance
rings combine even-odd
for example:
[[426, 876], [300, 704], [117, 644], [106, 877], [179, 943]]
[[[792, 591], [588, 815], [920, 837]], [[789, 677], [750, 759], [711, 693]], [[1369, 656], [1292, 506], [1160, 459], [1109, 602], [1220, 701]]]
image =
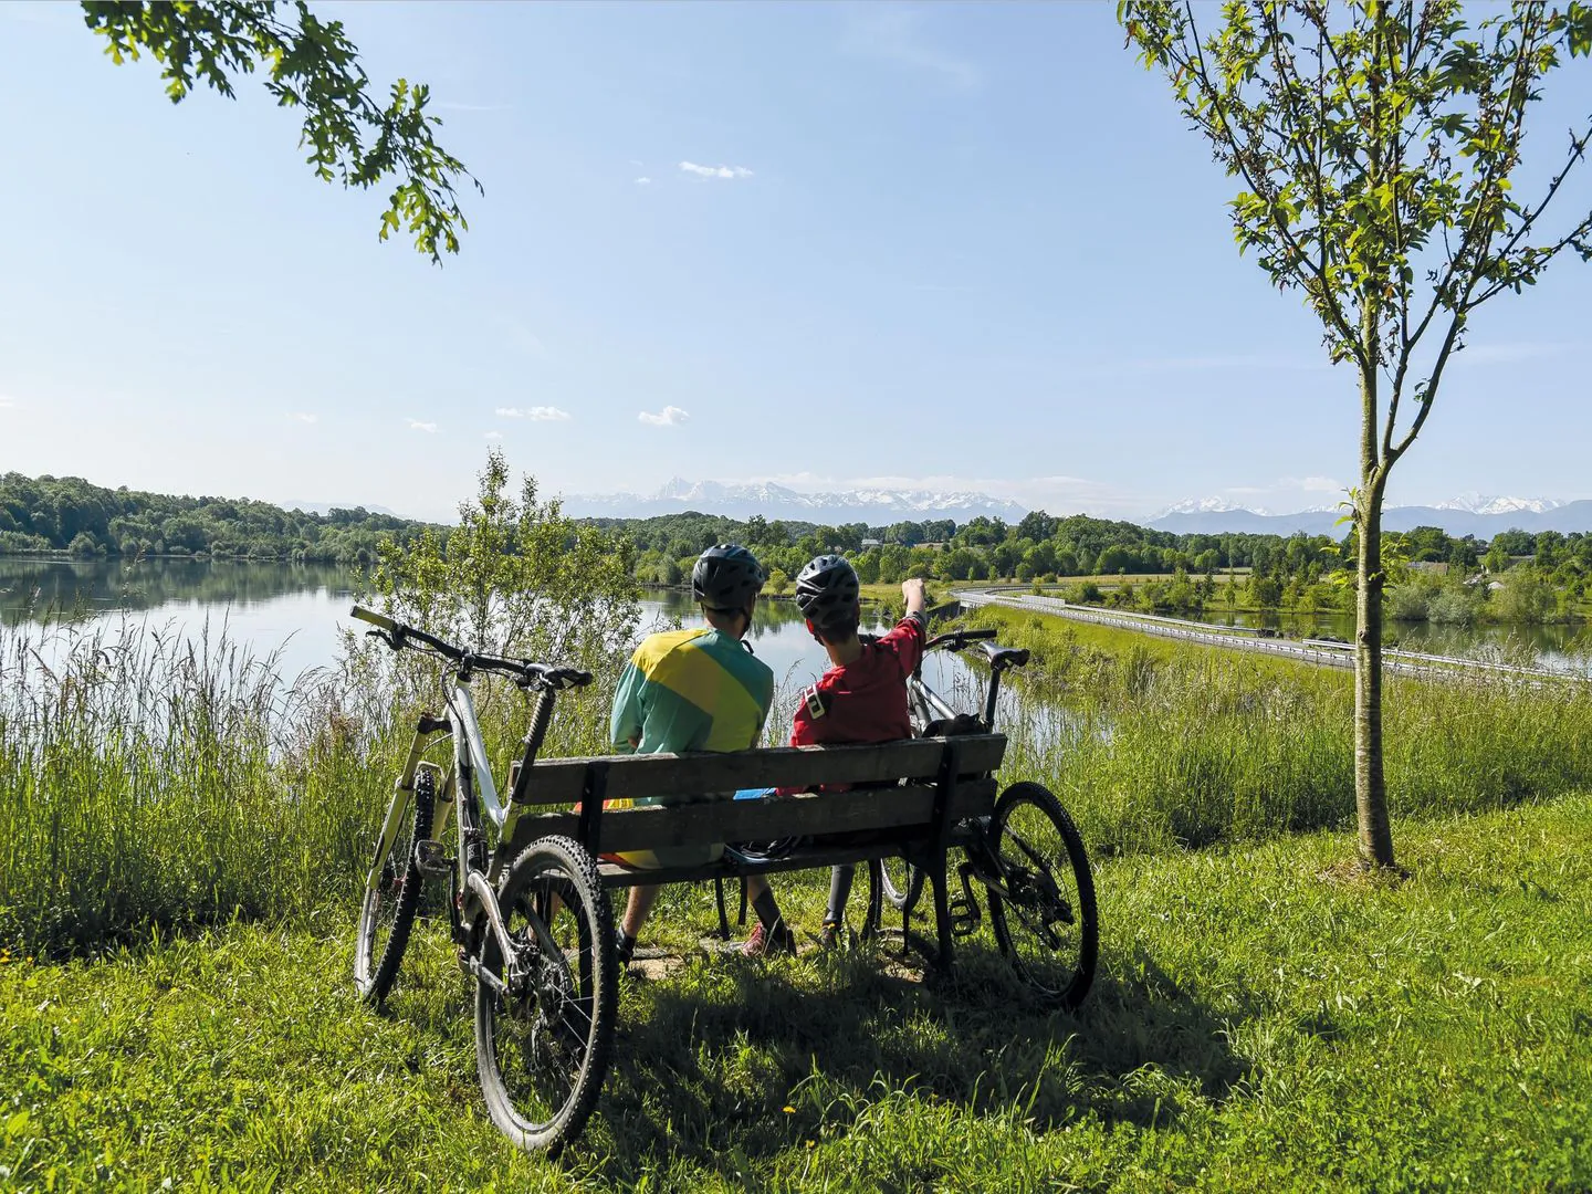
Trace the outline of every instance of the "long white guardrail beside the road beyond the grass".
[[[1028, 610], [1030, 613], [1046, 613], [1057, 618], [1071, 618], [1079, 622], [1095, 622], [1098, 626], [1114, 626], [1122, 630], [1153, 634], [1161, 638], [1176, 638], [1184, 643], [1204, 643], [1205, 646], [1224, 646], [1235, 651], [1256, 651], [1275, 654], [1321, 667], [1353, 667], [1353, 643], [1336, 643], [1325, 638], [1275, 638], [1264, 630], [1248, 626], [1210, 626], [1192, 622], [1184, 618], [1165, 618], [1154, 613], [1129, 613], [1124, 610], [1098, 610], [1091, 605], [1073, 605], [1060, 597], [1049, 597], [1032, 592], [998, 592], [992, 589], [958, 589], [950, 599], [963, 608], [981, 605], [1005, 605], [1013, 610]], [[1528, 680], [1567, 680], [1586, 678], [1565, 672], [1552, 672], [1543, 667], [1512, 667], [1509, 664], [1492, 664], [1481, 659], [1455, 659], [1441, 654], [1422, 654], [1418, 651], [1382, 651], [1382, 665], [1388, 672], [1407, 675], [1446, 675], [1453, 677], [1457, 670], [1501, 672]]]

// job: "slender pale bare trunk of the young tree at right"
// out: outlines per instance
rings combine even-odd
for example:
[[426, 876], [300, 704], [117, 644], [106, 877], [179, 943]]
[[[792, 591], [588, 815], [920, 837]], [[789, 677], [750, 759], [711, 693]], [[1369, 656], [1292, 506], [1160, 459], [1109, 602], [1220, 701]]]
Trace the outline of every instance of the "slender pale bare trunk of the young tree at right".
[[[1364, 384], [1363, 384], [1364, 385]], [[1375, 382], [1372, 380], [1374, 387]], [[1375, 443], [1375, 390], [1366, 395], [1366, 435]], [[1368, 462], [1363, 462], [1368, 463]], [[1355, 812], [1360, 821], [1360, 860], [1393, 866], [1388, 828], [1388, 791], [1382, 774], [1382, 492], [1380, 466], [1361, 470], [1360, 587], [1355, 600]]]

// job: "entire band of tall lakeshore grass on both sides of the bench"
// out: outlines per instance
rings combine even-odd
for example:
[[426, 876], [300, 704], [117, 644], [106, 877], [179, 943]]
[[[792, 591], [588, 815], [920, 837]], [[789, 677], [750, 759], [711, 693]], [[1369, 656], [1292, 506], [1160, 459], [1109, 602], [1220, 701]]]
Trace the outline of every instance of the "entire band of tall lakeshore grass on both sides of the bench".
[[[1352, 823], [1347, 673], [979, 618], [1036, 654], [1003, 705], [1001, 774], [1052, 786], [1097, 856]], [[224, 632], [0, 638], [0, 944], [70, 954], [345, 906], [414, 715], [441, 710], [433, 664], [352, 648], [288, 681]], [[616, 673], [611, 661], [560, 697], [549, 756], [607, 751]], [[962, 689], [973, 707], [974, 685]], [[529, 710], [486, 678], [476, 697], [501, 774]], [[1387, 702], [1396, 814], [1592, 786], [1592, 685], [1395, 680]], [[786, 739], [790, 708], [777, 700], [769, 742]]]

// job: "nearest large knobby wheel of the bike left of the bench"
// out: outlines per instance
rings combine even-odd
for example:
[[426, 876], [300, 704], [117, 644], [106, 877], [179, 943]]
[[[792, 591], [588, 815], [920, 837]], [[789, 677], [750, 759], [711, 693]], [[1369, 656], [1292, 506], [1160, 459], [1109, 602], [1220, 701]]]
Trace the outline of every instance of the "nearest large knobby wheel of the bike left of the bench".
[[[498, 888], [498, 907], [509, 939], [529, 955], [530, 976], [503, 995], [484, 979], [476, 982], [481, 1092], [492, 1122], [511, 1143], [557, 1156], [597, 1106], [613, 1051], [619, 1008], [613, 914], [597, 863], [560, 836], [541, 837], [519, 853]], [[557, 952], [548, 950], [530, 923], [538, 907]], [[481, 965], [498, 979], [506, 970], [490, 930]], [[573, 1075], [552, 1081], [554, 1067], [573, 1068]]]

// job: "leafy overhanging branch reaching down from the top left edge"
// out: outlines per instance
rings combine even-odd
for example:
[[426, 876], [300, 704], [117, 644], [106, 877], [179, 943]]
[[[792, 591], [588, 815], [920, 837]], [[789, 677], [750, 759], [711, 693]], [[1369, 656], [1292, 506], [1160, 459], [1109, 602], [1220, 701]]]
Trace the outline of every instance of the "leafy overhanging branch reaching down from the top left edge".
[[403, 226], [431, 261], [458, 252], [470, 224], [454, 181], [481, 183], [433, 140], [443, 121], [425, 111], [430, 88], [400, 78], [377, 99], [341, 21], [320, 21], [306, 0], [84, 0], [83, 21], [118, 65], [148, 51], [172, 103], [196, 83], [234, 99], [232, 80], [261, 68], [280, 107], [304, 110], [299, 146], [318, 178], [360, 189], [393, 180], [382, 240]]

